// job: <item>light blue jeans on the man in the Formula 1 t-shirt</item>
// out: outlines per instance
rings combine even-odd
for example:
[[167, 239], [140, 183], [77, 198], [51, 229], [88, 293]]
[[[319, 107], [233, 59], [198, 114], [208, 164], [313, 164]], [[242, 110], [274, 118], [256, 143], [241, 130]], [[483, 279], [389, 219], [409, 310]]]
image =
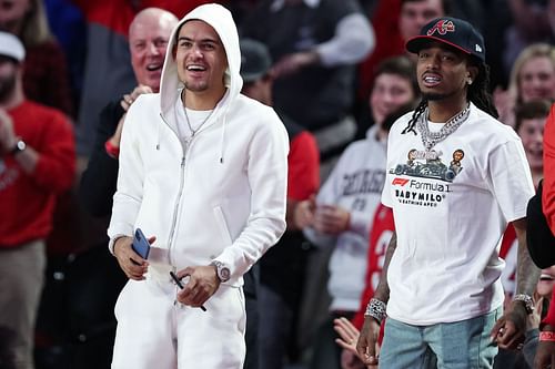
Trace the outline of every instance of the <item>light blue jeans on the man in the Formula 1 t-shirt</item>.
[[491, 369], [497, 346], [490, 331], [502, 308], [456, 322], [412, 326], [387, 318], [380, 352], [383, 369]]

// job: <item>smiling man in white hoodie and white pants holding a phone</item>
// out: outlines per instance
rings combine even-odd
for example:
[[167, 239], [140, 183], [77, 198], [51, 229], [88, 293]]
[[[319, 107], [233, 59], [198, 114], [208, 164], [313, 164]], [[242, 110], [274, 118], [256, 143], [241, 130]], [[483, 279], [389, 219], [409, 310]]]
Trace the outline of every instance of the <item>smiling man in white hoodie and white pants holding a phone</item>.
[[274, 111], [240, 94], [240, 63], [231, 13], [201, 6], [172, 33], [160, 93], [128, 111], [108, 230], [130, 278], [112, 368], [243, 366], [242, 276], [285, 229], [289, 147]]

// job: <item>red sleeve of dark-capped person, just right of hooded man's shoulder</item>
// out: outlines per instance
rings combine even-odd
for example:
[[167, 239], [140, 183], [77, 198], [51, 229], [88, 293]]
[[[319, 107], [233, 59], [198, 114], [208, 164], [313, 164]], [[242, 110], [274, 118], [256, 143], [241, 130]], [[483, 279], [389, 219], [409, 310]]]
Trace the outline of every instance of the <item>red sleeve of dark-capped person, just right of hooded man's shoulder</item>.
[[303, 131], [291, 141], [287, 156], [287, 198], [303, 201], [320, 187], [320, 153], [316, 139]]

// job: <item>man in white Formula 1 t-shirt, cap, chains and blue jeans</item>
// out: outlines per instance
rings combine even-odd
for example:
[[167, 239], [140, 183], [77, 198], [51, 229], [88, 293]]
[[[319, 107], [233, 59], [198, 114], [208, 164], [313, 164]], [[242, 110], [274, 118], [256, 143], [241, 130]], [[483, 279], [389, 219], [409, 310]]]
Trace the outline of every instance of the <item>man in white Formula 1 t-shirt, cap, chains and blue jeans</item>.
[[[493, 117], [484, 41], [470, 23], [435, 19], [406, 49], [417, 54], [423, 99], [389, 136], [382, 203], [393, 208], [396, 234], [357, 350], [387, 369], [492, 368], [497, 346], [524, 339], [533, 309], [528, 164], [516, 133]], [[498, 252], [508, 223], [519, 239], [517, 286], [503, 315]]]

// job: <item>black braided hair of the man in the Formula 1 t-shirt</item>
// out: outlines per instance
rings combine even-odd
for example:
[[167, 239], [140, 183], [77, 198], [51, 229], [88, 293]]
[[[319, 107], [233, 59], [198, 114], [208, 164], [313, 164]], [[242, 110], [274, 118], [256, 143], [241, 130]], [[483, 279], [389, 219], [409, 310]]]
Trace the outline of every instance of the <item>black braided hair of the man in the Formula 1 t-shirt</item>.
[[[478, 69], [478, 74], [476, 75], [474, 82], [470, 84], [466, 90], [466, 100], [474, 103], [476, 107], [483, 110], [487, 114], [497, 119], [500, 114], [497, 113], [497, 109], [493, 103], [492, 94], [488, 91], [490, 66], [474, 57], [468, 58], [468, 63], [472, 66], [476, 66]], [[420, 116], [424, 113], [426, 107], [427, 107], [427, 99], [422, 98], [422, 101], [420, 102], [418, 106], [416, 106], [416, 109], [414, 110], [413, 116], [408, 121], [406, 127], [401, 132], [401, 134], [405, 134], [408, 132], [413, 132], [414, 134], [416, 134], [416, 130], [414, 127], [416, 126], [416, 122], [418, 121]]]

